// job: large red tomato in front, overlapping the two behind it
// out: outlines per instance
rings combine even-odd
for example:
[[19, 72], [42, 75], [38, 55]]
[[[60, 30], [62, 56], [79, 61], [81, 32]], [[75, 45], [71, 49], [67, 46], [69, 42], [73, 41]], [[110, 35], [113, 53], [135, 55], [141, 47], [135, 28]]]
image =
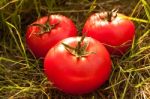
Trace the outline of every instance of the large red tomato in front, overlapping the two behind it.
[[80, 48], [76, 47], [80, 39], [64, 39], [49, 50], [44, 60], [48, 79], [65, 93], [89, 93], [100, 87], [111, 73], [111, 60], [106, 48], [90, 37], [85, 37]]

